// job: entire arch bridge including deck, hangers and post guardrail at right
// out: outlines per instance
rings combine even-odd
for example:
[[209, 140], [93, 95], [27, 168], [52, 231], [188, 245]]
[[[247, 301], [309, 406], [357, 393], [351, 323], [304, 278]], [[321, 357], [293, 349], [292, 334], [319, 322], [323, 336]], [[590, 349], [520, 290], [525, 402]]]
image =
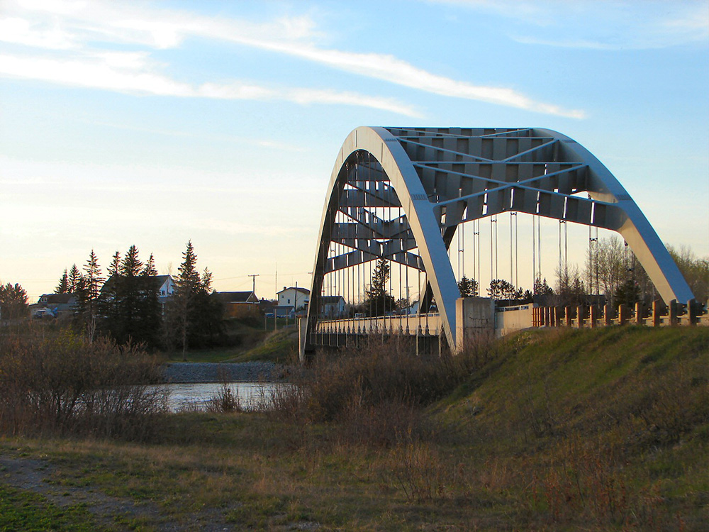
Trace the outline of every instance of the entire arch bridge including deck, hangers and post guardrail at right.
[[[542, 275], [541, 218], [559, 222], [560, 268], [562, 224], [564, 234], [568, 223], [588, 226], [589, 246], [598, 243], [601, 228], [623, 237], [657, 289], [664, 304], [654, 306], [653, 324], [681, 323], [684, 308], [685, 322], [704, 323], [691, 289], [630, 194], [566, 135], [540, 128], [359, 127], [342, 144], [330, 177], [308, 316], [301, 323], [301, 357], [316, 345], [369, 334], [440, 338], [455, 352], [483, 330], [646, 321], [645, 309], [545, 311], [527, 305], [502, 311], [490, 299], [460, 298], [457, 277], [466, 264], [479, 282], [481, 257], [489, 258], [489, 278], [502, 277], [496, 240], [503, 214], [509, 215], [510, 284], [518, 285], [518, 214], [532, 221], [533, 278]], [[481, 245], [483, 218], [490, 221], [489, 250]], [[527, 246], [528, 240], [523, 238]], [[466, 242], [472, 243], [470, 261]], [[378, 278], [381, 268], [387, 275]], [[376, 282], [382, 278], [383, 284]], [[375, 286], [381, 305], [372, 313]], [[405, 307], [412, 293], [418, 308]], [[344, 318], [342, 309], [354, 317]]]

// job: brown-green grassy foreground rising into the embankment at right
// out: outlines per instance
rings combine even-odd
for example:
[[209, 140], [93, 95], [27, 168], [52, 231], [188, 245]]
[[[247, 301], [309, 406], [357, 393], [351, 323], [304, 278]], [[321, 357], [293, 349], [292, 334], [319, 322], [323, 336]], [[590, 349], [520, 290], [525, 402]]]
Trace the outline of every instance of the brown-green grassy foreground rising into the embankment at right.
[[60, 492], [145, 504], [57, 517], [12, 488], [0, 529], [706, 528], [707, 329], [534, 331], [455, 360], [392, 351], [316, 362], [309, 392], [275, 413], [164, 416], [142, 444], [6, 436], [0, 457], [41, 462]]

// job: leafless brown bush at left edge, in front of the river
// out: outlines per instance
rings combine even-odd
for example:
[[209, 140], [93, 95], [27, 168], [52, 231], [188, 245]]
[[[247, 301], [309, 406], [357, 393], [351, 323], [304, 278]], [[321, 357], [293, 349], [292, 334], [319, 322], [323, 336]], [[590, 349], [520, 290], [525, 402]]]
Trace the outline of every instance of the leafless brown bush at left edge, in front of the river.
[[165, 393], [142, 348], [69, 330], [0, 337], [0, 433], [150, 438]]

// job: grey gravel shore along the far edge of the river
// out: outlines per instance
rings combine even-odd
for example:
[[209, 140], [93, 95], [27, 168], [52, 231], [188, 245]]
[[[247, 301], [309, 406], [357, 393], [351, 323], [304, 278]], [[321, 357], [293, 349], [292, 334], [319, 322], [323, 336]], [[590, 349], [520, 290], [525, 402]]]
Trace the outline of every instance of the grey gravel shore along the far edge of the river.
[[[165, 382], [277, 382], [286, 379], [286, 367], [273, 362], [169, 362]], [[226, 375], [224, 376], [224, 373]]]

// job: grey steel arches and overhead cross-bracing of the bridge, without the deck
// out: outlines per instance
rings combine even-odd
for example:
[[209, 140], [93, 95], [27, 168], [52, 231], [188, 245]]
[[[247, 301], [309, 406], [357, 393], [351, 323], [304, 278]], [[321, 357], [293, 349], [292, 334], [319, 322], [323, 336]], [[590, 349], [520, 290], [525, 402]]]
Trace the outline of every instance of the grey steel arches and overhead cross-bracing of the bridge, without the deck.
[[[378, 216], [377, 209], [387, 208], [403, 214]], [[566, 135], [541, 128], [359, 127], [342, 144], [330, 177], [307, 333], [319, 318], [325, 275], [384, 258], [423, 272], [419, 312], [435, 299], [455, 349], [460, 294], [447, 252], [456, 228], [515, 211], [616, 231], [666, 303], [693, 299], [618, 179]]]

